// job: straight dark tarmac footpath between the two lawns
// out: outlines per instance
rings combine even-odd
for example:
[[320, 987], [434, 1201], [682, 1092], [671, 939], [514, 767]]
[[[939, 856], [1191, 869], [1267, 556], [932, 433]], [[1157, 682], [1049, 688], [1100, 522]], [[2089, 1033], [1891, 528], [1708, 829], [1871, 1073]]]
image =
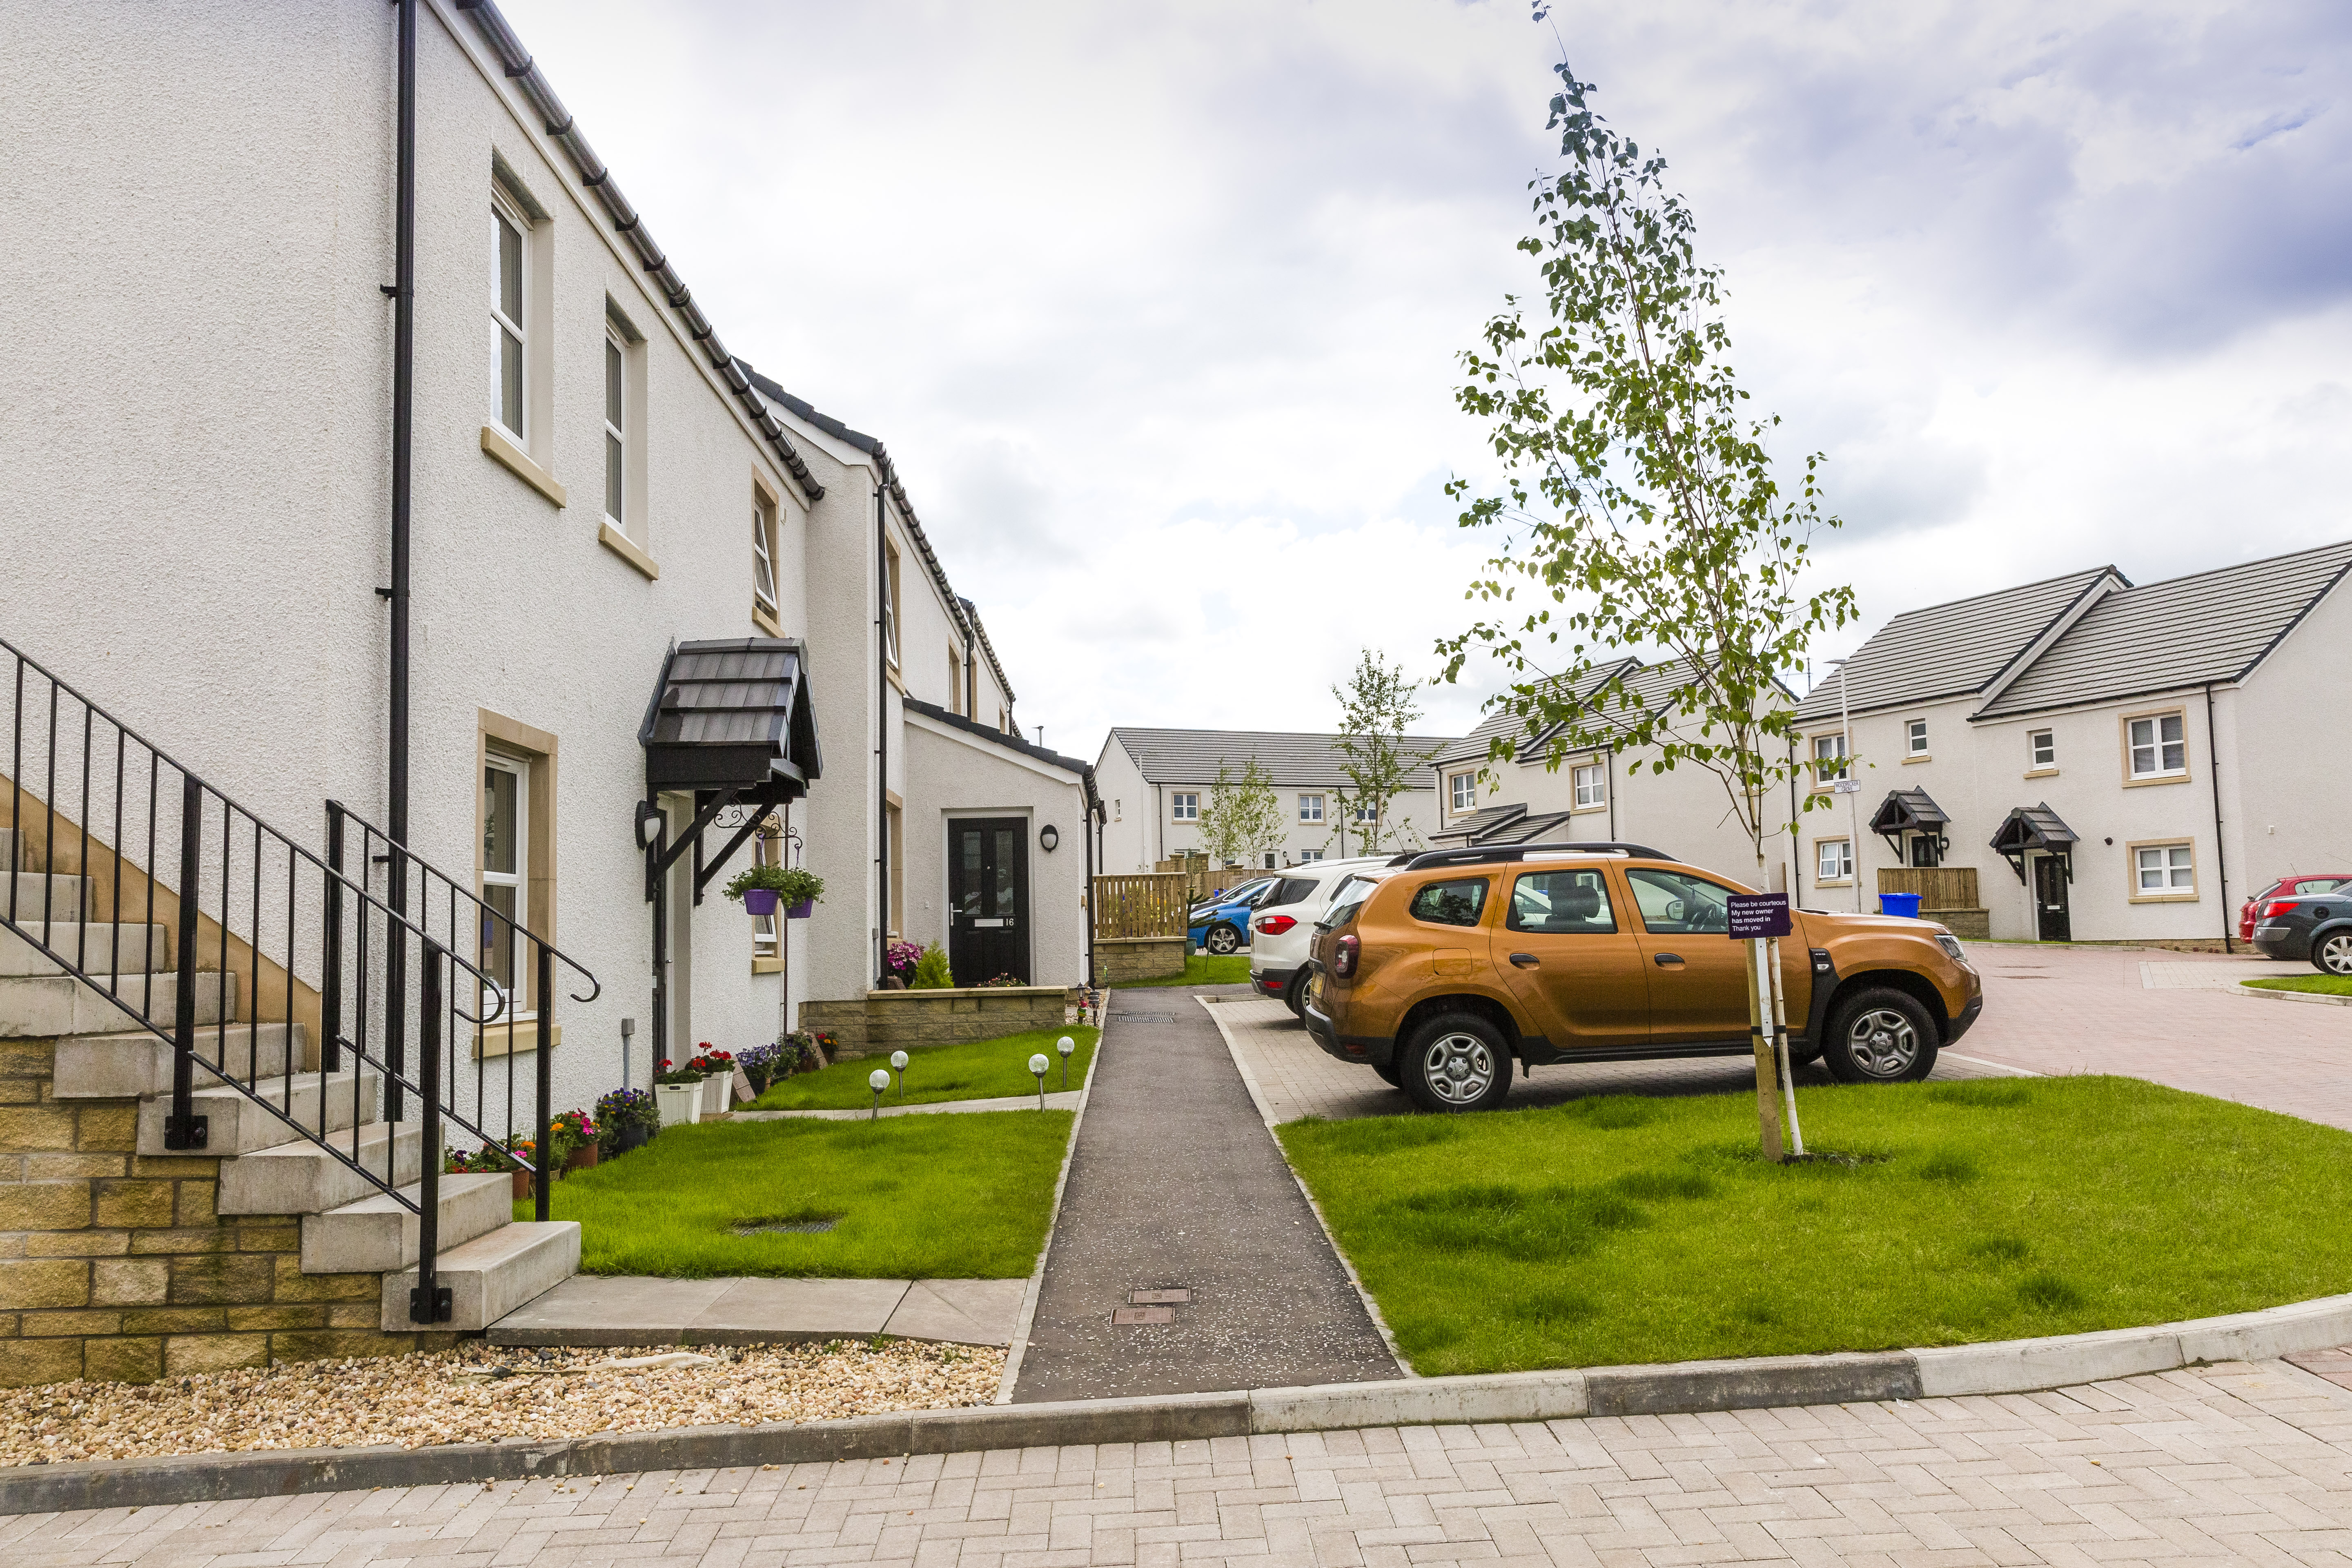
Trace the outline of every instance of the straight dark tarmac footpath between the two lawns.
[[1402, 1375], [1197, 990], [1112, 992], [1016, 1403]]

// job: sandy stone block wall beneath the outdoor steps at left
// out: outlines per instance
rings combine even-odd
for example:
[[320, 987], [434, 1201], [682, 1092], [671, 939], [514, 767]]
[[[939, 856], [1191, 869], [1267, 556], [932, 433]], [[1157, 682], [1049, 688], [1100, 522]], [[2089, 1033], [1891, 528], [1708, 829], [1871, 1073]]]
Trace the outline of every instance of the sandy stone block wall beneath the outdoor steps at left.
[[381, 1333], [381, 1274], [303, 1274], [299, 1215], [216, 1215], [221, 1161], [139, 1154], [139, 1100], [56, 1100], [0, 1039], [0, 1387], [440, 1349]]

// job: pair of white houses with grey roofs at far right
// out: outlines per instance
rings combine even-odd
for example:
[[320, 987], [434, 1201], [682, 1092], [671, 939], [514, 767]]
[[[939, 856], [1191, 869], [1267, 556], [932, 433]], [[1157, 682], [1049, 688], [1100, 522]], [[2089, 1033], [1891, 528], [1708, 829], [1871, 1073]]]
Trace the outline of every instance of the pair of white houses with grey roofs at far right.
[[2326, 724], [2352, 541], [2133, 585], [2074, 571], [1896, 616], [1797, 708], [1809, 905], [1973, 879], [1990, 936], [2223, 947], [2352, 863]]

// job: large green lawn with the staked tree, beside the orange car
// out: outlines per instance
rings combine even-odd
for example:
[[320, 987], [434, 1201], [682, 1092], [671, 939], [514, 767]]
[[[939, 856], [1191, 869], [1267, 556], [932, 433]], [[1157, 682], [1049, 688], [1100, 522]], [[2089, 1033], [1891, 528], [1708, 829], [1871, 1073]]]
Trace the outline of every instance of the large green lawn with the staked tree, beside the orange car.
[[1277, 1128], [1416, 1373], [2009, 1340], [2352, 1288], [2352, 1133], [2138, 1079]]

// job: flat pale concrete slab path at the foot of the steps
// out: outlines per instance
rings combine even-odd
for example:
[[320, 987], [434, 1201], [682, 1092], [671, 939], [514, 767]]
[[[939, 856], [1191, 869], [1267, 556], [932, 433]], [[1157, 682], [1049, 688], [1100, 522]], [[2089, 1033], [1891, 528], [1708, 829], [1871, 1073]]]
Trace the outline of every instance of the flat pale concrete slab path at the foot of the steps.
[[783, 1345], [887, 1333], [1011, 1345], [1025, 1279], [647, 1279], [574, 1274], [492, 1345]]

